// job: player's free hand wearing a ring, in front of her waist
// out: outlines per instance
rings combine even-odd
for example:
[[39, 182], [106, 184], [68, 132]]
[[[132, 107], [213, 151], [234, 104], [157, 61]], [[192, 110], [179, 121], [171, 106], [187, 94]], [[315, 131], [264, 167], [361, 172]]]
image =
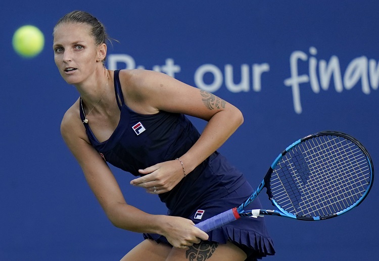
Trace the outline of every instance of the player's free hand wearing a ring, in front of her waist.
[[146, 191], [152, 194], [168, 192], [184, 178], [183, 169], [178, 160], [158, 163], [138, 172], [145, 176], [133, 179], [130, 184], [146, 188]]

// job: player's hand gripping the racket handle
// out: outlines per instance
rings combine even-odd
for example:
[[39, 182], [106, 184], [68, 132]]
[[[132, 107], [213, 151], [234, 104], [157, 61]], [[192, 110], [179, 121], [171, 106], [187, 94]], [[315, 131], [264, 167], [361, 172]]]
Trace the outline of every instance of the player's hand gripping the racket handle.
[[161, 216], [162, 235], [168, 242], [177, 248], [186, 248], [201, 240], [208, 240], [208, 234], [195, 227], [194, 222], [189, 219], [173, 216]]

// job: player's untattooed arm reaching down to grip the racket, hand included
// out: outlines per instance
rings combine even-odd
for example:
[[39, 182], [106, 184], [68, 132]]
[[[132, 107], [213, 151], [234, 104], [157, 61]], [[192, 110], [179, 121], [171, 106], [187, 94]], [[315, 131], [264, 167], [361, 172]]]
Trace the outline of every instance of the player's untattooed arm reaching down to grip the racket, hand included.
[[89, 187], [114, 226], [133, 232], [166, 236], [176, 247], [198, 243], [199, 238], [208, 238], [191, 220], [151, 215], [127, 204], [107, 163], [90, 145], [85, 128], [73, 108], [67, 111], [62, 120], [61, 134], [82, 168]]

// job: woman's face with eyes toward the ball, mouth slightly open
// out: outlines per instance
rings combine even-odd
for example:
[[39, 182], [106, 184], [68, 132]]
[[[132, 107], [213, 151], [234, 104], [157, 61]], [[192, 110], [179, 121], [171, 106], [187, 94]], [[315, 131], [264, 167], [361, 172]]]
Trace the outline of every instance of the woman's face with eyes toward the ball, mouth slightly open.
[[99, 57], [98, 47], [83, 23], [64, 23], [54, 30], [54, 61], [68, 84], [80, 84], [94, 73]]

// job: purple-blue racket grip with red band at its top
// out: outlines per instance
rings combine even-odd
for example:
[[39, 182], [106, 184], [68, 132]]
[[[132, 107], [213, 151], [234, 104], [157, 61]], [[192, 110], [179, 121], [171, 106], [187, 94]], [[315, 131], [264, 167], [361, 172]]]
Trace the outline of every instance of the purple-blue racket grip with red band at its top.
[[239, 218], [240, 215], [237, 212], [237, 208], [234, 207], [231, 210], [225, 211], [217, 216], [196, 224], [195, 227], [200, 228], [204, 232], [209, 232]]

